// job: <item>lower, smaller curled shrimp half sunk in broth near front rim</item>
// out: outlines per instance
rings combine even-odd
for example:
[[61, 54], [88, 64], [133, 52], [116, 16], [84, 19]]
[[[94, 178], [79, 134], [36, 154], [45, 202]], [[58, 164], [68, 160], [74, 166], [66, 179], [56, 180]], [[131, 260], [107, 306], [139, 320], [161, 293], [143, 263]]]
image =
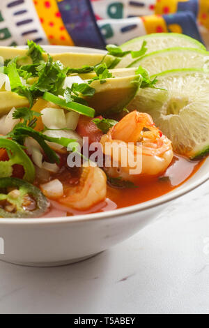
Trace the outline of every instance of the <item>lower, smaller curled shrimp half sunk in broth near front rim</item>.
[[77, 210], [85, 210], [105, 200], [107, 177], [100, 167], [83, 166], [79, 184], [70, 187], [67, 195], [59, 200], [62, 204]]

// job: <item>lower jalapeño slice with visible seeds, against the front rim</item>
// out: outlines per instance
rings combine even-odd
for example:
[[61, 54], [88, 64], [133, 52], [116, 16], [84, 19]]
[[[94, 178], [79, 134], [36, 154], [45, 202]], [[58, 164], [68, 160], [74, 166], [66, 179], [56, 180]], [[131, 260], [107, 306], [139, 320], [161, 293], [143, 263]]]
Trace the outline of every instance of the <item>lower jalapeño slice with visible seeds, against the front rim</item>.
[[40, 189], [17, 178], [0, 179], [0, 217], [37, 218], [49, 207]]

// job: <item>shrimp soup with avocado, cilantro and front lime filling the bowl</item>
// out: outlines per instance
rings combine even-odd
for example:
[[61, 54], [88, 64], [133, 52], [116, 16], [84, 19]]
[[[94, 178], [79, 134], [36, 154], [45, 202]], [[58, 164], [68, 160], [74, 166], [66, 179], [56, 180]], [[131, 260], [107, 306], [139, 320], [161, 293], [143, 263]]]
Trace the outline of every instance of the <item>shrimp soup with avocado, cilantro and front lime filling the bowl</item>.
[[62, 54], [54, 59], [33, 41], [13, 58], [1, 57], [0, 217], [130, 207], [178, 188], [208, 156], [209, 101], [202, 108], [188, 95], [191, 84], [180, 94], [192, 78], [202, 82], [204, 98], [208, 75], [172, 70], [150, 77], [142, 67], [117, 68], [141, 50], [107, 50], [99, 63], [91, 54], [93, 66], [81, 56], [79, 67], [72, 66], [74, 54], [62, 62]]

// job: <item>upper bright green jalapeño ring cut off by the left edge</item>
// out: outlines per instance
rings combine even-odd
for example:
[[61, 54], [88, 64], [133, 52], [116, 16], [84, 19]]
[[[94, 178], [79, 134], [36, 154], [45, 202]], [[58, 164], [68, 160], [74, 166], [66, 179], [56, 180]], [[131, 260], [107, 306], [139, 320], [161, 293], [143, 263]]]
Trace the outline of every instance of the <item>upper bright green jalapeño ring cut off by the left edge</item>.
[[33, 182], [35, 179], [35, 167], [20, 144], [6, 137], [0, 137], [0, 148], [6, 149], [9, 157], [8, 161], [0, 161], [0, 178], [12, 177], [13, 165], [19, 164], [24, 167], [23, 179]]

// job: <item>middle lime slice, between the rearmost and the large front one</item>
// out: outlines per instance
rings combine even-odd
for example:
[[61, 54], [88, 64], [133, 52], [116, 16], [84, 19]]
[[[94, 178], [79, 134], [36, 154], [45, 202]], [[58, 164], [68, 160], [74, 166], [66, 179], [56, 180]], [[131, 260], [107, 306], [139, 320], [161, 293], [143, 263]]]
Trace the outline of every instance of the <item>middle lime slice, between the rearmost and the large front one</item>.
[[150, 75], [180, 68], [203, 68], [209, 70], [209, 52], [192, 48], [174, 47], [146, 54], [130, 67], [142, 66]]

